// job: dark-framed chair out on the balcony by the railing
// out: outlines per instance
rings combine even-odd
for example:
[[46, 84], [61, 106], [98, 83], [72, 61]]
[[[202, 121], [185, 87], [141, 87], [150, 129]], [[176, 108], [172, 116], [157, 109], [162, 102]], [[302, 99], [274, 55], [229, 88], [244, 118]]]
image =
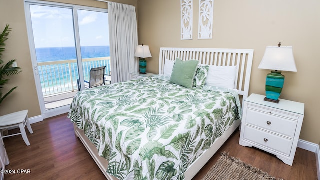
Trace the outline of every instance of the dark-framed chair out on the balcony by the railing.
[[[84, 86], [86, 88], [96, 87], [99, 85], [104, 85], [104, 75], [105, 75], [105, 66], [91, 68], [90, 70], [90, 81], [85, 81]], [[88, 84], [88, 85], [86, 85]]]

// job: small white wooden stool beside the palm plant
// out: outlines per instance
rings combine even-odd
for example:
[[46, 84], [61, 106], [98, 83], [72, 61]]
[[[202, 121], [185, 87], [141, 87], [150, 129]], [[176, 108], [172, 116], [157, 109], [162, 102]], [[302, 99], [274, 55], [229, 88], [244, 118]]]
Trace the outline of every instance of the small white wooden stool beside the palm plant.
[[[32, 134], [33, 130], [29, 122], [28, 110], [22, 110], [22, 111], [13, 112], [10, 114], [0, 116], [0, 130], [1, 130], [2, 138], [21, 134], [25, 144], [29, 146], [30, 142], [28, 140], [28, 137], [24, 129], [25, 126], [28, 128], [29, 132]], [[19, 127], [20, 133], [3, 136], [3, 129], [10, 128], [10, 127]]]

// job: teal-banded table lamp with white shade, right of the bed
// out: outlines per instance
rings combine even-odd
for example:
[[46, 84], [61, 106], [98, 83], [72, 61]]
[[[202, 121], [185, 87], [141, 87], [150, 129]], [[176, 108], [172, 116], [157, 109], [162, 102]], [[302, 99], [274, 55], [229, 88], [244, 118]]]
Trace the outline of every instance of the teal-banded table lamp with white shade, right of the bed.
[[267, 46], [258, 68], [271, 69], [271, 73], [266, 75], [264, 100], [279, 103], [284, 84], [284, 75], [281, 74], [281, 70], [297, 71], [292, 46], [281, 46], [281, 42], [278, 46]]

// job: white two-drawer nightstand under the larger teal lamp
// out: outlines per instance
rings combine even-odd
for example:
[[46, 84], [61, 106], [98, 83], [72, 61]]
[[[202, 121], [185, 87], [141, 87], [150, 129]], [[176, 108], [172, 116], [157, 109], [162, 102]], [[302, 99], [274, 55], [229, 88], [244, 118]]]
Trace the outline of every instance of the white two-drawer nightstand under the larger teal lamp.
[[277, 104], [264, 97], [251, 94], [244, 100], [239, 144], [267, 151], [292, 166], [304, 103], [280, 99]]

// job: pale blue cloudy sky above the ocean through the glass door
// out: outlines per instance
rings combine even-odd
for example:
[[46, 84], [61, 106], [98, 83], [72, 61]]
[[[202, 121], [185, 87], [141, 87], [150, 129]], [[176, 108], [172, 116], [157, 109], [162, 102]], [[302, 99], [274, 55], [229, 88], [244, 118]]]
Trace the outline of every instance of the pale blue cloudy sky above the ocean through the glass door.
[[[75, 46], [72, 9], [30, 5], [35, 48]], [[81, 46], [109, 45], [108, 14], [77, 10]]]

